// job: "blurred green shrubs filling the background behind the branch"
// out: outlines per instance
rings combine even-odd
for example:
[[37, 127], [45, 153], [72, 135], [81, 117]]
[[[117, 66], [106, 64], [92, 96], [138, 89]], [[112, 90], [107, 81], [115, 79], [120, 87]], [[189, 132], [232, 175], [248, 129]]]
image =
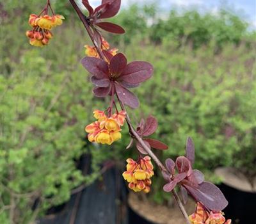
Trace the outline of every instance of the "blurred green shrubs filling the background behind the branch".
[[[54, 30], [48, 47], [37, 49], [24, 35], [29, 13], [41, 1], [3, 4], [1, 47], [1, 221], [29, 223], [52, 205], [62, 204], [70, 191], [90, 184], [106, 159], [135, 157], [123, 140], [111, 147], [88, 144], [84, 125], [93, 109], [108, 102], [93, 97], [92, 84], [79, 61], [89, 40], [69, 4], [54, 8], [67, 20]], [[156, 152], [161, 159], [184, 154], [186, 138], [196, 145], [196, 168], [216, 180], [218, 166], [235, 166], [255, 175], [256, 83], [255, 33], [236, 15], [195, 11], [170, 12], [157, 19], [154, 5], [131, 6], [116, 20], [127, 35], [106, 35], [129, 61], [154, 65], [154, 77], [134, 90], [141, 107], [131, 111], [134, 124], [152, 114], [159, 120], [156, 138], [170, 147]], [[151, 26], [153, 25], [153, 26]], [[74, 35], [74, 33], [76, 35]], [[108, 101], [108, 100], [107, 100]], [[125, 152], [125, 153], [124, 153]], [[92, 174], [82, 175], [77, 161], [92, 156]], [[157, 170], [157, 169], [156, 169]], [[151, 196], [163, 203], [170, 195], [163, 180], [153, 179]]]

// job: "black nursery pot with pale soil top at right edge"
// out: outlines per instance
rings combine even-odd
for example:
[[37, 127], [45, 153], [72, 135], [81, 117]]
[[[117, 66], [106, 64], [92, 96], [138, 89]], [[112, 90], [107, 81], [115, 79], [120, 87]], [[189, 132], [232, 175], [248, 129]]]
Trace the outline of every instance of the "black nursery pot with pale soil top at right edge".
[[215, 173], [223, 180], [219, 188], [228, 200], [225, 217], [234, 224], [256, 224], [256, 179], [252, 185], [243, 173], [230, 167], [218, 168]]

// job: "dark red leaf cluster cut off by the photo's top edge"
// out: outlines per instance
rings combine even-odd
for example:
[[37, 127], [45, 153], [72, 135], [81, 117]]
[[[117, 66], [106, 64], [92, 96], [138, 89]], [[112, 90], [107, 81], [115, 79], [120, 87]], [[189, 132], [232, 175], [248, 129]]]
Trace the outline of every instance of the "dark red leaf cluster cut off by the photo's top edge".
[[112, 22], [102, 22], [102, 19], [107, 19], [115, 16], [120, 10], [121, 0], [102, 0], [101, 4], [93, 10], [88, 0], [82, 1], [83, 5], [89, 12], [88, 19], [92, 26], [98, 26], [110, 33], [125, 33], [121, 26]]

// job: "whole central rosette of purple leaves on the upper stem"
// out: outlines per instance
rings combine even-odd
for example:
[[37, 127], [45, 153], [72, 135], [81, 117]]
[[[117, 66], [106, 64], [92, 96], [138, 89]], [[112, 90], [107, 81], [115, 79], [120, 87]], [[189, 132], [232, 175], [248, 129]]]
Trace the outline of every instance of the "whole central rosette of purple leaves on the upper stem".
[[85, 57], [81, 63], [92, 74], [91, 81], [95, 85], [93, 93], [96, 97], [116, 94], [124, 104], [131, 108], [137, 108], [139, 100], [128, 88], [139, 86], [153, 73], [150, 63], [146, 61], [127, 63], [122, 53], [113, 56], [109, 63], [93, 57]]

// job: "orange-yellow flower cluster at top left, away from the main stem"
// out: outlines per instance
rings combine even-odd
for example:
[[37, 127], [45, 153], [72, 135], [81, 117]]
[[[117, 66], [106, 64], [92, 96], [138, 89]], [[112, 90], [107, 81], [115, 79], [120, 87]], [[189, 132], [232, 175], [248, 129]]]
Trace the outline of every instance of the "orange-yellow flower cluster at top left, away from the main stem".
[[51, 29], [60, 26], [64, 17], [62, 15], [42, 15], [31, 14], [28, 23], [33, 30], [26, 31], [29, 43], [36, 47], [43, 47], [52, 38]]

